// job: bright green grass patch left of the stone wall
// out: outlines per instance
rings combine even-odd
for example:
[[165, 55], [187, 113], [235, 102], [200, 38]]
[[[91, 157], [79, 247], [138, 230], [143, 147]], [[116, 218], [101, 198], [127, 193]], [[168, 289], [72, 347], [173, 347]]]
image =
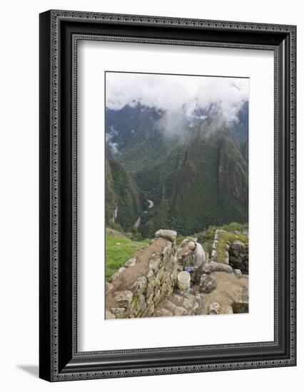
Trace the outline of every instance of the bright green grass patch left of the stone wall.
[[148, 240], [132, 241], [128, 238], [106, 236], [106, 281], [146, 244]]

